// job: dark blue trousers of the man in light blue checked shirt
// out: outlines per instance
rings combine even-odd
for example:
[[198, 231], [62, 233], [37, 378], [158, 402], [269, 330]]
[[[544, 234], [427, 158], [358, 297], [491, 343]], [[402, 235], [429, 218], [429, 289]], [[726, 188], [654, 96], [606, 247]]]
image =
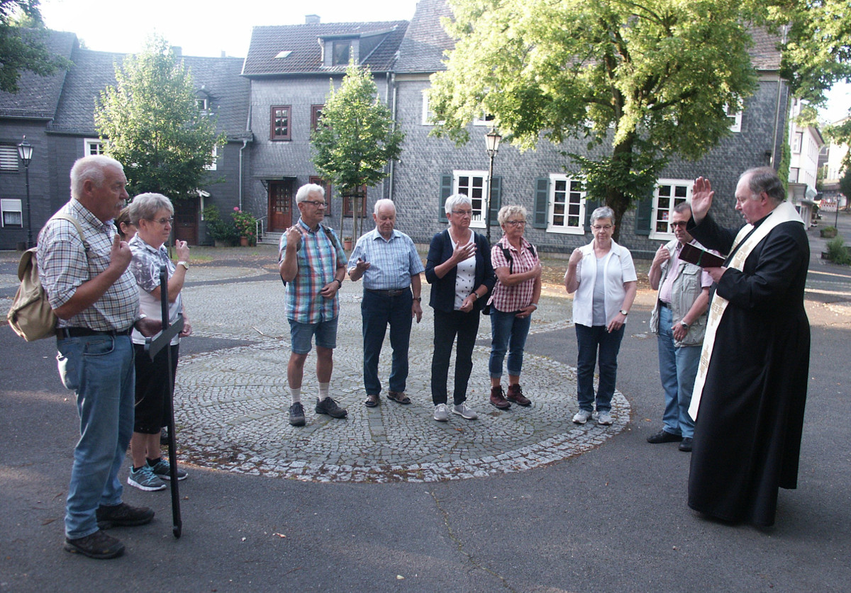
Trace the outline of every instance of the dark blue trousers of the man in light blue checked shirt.
[[378, 379], [378, 360], [381, 346], [390, 324], [390, 346], [393, 359], [390, 371], [390, 391], [405, 391], [408, 381], [408, 345], [411, 340], [411, 289], [398, 296], [363, 291], [361, 318], [363, 319], [363, 385], [368, 394], [381, 393]]

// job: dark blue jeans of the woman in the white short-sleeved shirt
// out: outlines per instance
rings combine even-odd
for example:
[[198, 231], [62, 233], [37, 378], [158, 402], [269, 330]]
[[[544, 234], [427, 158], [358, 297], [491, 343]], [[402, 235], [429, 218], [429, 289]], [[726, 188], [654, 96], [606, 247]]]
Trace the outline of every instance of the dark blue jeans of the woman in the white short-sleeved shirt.
[[580, 409], [594, 411], [594, 367], [599, 351], [600, 382], [597, 385], [597, 412], [612, 409], [614, 381], [618, 374], [618, 352], [626, 325], [608, 333], [605, 325], [576, 324], [576, 343], [579, 358], [576, 362], [576, 394]]

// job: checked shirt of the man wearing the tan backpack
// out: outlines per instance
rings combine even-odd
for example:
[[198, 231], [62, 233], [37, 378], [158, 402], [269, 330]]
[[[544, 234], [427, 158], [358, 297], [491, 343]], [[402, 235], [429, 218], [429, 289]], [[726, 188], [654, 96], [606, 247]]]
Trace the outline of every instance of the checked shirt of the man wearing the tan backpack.
[[[74, 223], [61, 218], [49, 220], [38, 234], [38, 275], [54, 309], [68, 302], [80, 285], [109, 267], [116, 235], [115, 225], [100, 222], [77, 200], [71, 199], [59, 212], [77, 218], [86, 244]], [[139, 289], [128, 268], [91, 307], [71, 319], [60, 319], [57, 327], [120, 331], [127, 330], [138, 317]]]

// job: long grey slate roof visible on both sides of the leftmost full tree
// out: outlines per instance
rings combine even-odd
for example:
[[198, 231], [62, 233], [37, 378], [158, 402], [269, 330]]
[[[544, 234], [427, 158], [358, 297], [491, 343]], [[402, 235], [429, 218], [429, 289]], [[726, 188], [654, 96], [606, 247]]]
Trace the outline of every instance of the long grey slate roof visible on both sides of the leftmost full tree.
[[[68, 71], [65, 88], [49, 132], [97, 136], [94, 127], [94, 101], [107, 86], [114, 86], [115, 65], [125, 54], [96, 52], [77, 48]], [[210, 99], [211, 110], [218, 116], [217, 131], [228, 138], [251, 138], [248, 127], [250, 83], [242, 76], [242, 58], [201, 58], [182, 56], [199, 98]]]

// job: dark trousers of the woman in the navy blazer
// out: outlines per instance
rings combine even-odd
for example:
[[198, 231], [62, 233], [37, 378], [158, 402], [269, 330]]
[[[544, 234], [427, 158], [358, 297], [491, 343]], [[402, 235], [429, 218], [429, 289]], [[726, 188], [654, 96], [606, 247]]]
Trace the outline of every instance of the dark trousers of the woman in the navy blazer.
[[458, 336], [455, 352], [455, 388], [453, 403], [463, 404], [467, 398], [467, 382], [473, 370], [473, 347], [476, 345], [479, 317], [475, 308], [470, 313], [434, 310], [434, 355], [431, 357], [431, 401], [446, 404], [446, 381], [449, 375], [449, 357], [452, 344]]

